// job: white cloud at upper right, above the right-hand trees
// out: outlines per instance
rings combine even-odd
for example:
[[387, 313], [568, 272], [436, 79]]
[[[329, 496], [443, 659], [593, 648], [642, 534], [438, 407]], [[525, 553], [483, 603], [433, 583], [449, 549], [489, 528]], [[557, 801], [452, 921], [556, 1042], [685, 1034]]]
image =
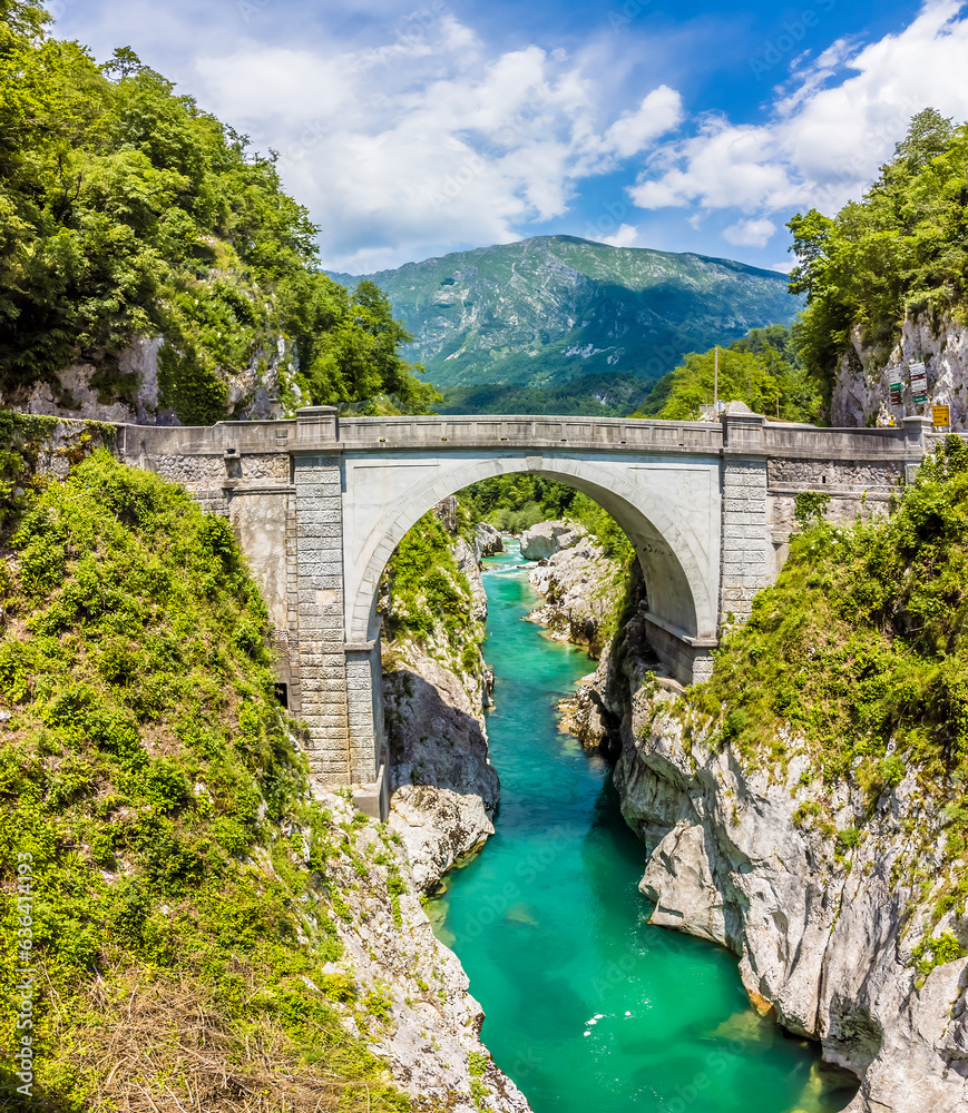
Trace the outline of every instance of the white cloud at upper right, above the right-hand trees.
[[[767, 122], [701, 120], [695, 136], [656, 152], [629, 196], [647, 209], [837, 210], [877, 176], [916, 112], [932, 106], [958, 121], [968, 118], [964, 8], [958, 0], [927, 0], [897, 35], [862, 49], [834, 43], [781, 91]], [[838, 67], [850, 73], [832, 85]]]

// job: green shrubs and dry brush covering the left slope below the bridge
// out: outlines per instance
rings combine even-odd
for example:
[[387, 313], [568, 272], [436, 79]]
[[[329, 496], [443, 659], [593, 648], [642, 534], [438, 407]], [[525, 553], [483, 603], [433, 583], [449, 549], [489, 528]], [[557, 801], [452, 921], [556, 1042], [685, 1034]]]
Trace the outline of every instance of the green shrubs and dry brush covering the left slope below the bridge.
[[[37, 1109], [190, 1109], [213, 1085], [267, 1113], [409, 1109], [365, 1047], [385, 1001], [323, 971], [352, 877], [398, 907], [395, 850], [380, 835], [368, 861], [309, 799], [227, 522], [96, 450], [8, 498], [0, 529], [0, 1044], [27, 861]], [[31, 1109], [17, 1085], [4, 1056], [4, 1107]]]

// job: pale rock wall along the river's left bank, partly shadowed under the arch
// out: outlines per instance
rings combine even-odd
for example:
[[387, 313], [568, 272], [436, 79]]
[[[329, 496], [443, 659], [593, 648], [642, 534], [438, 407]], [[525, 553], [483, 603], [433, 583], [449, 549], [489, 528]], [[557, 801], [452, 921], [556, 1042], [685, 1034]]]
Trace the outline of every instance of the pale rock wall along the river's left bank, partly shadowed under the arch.
[[[408, 890], [420, 897], [437, 889], [450, 868], [493, 835], [500, 799], [500, 781], [488, 760], [483, 720], [492, 678], [480, 652], [487, 618], [480, 559], [501, 551], [500, 535], [490, 528], [479, 528], [468, 539], [454, 500], [446, 500], [436, 513], [448, 528], [449, 552], [472, 608], [462, 632], [470, 633], [475, 653], [469, 662], [468, 654], [459, 652], [453, 632], [449, 634], [437, 621], [429, 636], [403, 633], [390, 639], [384, 647], [383, 673], [391, 766], [388, 826], [405, 856]], [[392, 572], [381, 608], [389, 613], [394, 608]], [[528, 1113], [524, 1095], [477, 1038], [483, 1013], [467, 992], [460, 961], [433, 937], [419, 902], [415, 907], [410, 904], [407, 915], [415, 918], [421, 949], [414, 949], [409, 961], [401, 962], [397, 952], [378, 955], [378, 959], [381, 968], [404, 979], [417, 977], [426, 1002], [418, 1007], [422, 1007], [421, 1021], [428, 1023], [419, 1032], [410, 1024], [397, 1026], [388, 1045], [394, 1077], [403, 1080], [404, 1086], [412, 1081], [422, 1095], [450, 1103], [456, 1099], [457, 1104], [447, 1107], [459, 1113], [482, 1107]], [[410, 929], [409, 923], [404, 930]], [[388, 945], [399, 947], [399, 940], [398, 933]], [[427, 974], [428, 962], [434, 958], [438, 965], [433, 971], [443, 975], [437, 982]], [[422, 963], [422, 968], [412, 969], [414, 962]], [[440, 981], [444, 981], [447, 999], [438, 988]], [[431, 1011], [438, 1016], [432, 1017]], [[463, 1104], [466, 1092], [472, 1094], [473, 1105]]]

